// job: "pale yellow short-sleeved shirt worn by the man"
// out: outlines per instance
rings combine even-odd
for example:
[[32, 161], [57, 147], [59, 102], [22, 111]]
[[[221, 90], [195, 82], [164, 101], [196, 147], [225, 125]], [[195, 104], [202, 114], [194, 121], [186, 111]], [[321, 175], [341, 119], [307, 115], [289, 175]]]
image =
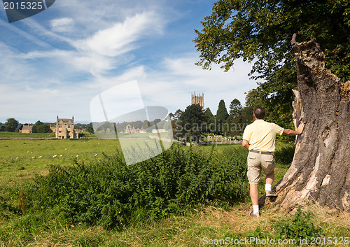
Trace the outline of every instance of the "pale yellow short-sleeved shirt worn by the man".
[[276, 134], [281, 136], [283, 131], [282, 127], [273, 122], [258, 119], [244, 129], [243, 139], [248, 141], [249, 150], [274, 152]]

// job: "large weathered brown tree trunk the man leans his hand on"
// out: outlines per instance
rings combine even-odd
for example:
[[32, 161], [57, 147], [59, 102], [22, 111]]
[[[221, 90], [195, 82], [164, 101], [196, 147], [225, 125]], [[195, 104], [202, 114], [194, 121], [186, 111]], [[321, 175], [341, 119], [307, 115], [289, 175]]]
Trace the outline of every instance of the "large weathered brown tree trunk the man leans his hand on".
[[298, 87], [293, 120], [305, 127], [274, 204], [293, 209], [309, 200], [350, 212], [350, 81], [341, 83], [325, 69], [315, 39], [297, 43], [293, 36], [292, 44]]

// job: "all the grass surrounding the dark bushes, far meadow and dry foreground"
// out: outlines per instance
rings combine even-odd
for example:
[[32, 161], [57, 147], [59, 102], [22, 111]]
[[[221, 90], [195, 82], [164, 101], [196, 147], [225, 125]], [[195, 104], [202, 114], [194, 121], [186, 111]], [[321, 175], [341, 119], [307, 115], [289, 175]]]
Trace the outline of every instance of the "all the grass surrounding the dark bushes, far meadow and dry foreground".
[[[277, 148], [288, 146], [290, 143], [279, 142]], [[193, 147], [204, 152], [211, 152], [212, 148]], [[188, 147], [183, 146], [183, 149]], [[118, 140], [109, 139], [1, 139], [0, 150], [0, 246], [207, 246], [209, 244], [205, 243], [209, 239], [261, 237], [261, 234], [256, 235], [257, 229], [273, 233], [276, 221], [290, 220], [291, 217], [275, 209], [263, 209], [262, 218], [253, 219], [248, 216], [249, 198], [229, 210], [203, 206], [153, 223], [130, 225], [122, 231], [105, 230], [99, 225], [72, 225], [59, 214], [50, 213], [52, 211], [23, 214], [20, 213], [23, 202], [14, 195], [18, 195], [35, 174], [48, 174], [51, 164], [71, 166], [75, 161], [89, 163], [104, 159], [103, 153], [112, 155], [120, 150], [120, 145]], [[242, 147], [215, 146], [214, 155], [221, 155], [225, 150], [235, 152]], [[289, 165], [276, 164], [275, 183]], [[265, 190], [263, 181], [264, 178], [258, 187], [260, 195]], [[321, 227], [323, 237], [350, 238], [349, 214], [327, 212], [317, 204], [304, 209], [313, 212], [309, 223]]]

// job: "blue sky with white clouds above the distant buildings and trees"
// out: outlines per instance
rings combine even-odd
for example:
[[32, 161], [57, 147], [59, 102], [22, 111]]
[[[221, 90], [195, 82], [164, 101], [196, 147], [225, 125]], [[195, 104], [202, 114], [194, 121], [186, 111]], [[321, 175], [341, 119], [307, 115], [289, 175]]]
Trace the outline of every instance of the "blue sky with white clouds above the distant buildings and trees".
[[195, 66], [194, 29], [214, 2], [56, 0], [13, 23], [1, 7], [0, 122], [55, 122], [57, 115], [91, 122], [94, 97], [135, 80], [144, 106], [173, 113], [190, 104], [191, 92], [204, 92], [214, 114], [221, 99], [227, 108], [235, 98], [244, 104], [244, 92], [256, 87], [251, 64], [237, 60], [226, 73]]

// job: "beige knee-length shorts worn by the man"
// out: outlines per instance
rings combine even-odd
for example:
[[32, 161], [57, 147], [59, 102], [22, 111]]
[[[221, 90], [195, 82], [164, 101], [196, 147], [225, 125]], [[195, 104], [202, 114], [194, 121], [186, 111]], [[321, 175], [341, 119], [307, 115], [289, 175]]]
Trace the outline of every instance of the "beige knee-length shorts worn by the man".
[[257, 185], [260, 182], [261, 169], [265, 175], [269, 175], [274, 171], [276, 167], [274, 165], [274, 155], [271, 154], [260, 154], [260, 153], [248, 153], [247, 158], [248, 171], [246, 176], [250, 184]]

